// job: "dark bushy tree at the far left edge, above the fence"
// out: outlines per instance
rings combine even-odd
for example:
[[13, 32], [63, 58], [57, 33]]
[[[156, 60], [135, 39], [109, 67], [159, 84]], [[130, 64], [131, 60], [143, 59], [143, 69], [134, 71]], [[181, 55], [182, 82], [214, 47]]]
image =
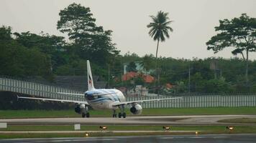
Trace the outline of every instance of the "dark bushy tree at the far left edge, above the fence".
[[42, 76], [52, 80], [50, 57], [12, 39], [11, 27], [0, 27], [0, 74], [12, 77]]

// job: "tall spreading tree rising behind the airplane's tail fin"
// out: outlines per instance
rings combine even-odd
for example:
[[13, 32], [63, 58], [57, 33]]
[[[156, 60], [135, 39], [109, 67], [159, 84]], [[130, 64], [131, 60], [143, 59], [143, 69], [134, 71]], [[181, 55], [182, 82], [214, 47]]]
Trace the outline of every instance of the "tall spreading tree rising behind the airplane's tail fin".
[[106, 67], [111, 56], [119, 54], [111, 41], [112, 31], [96, 26], [90, 8], [73, 3], [61, 10], [59, 15], [57, 29], [68, 34], [75, 47], [73, 51], [82, 59], [90, 59]]

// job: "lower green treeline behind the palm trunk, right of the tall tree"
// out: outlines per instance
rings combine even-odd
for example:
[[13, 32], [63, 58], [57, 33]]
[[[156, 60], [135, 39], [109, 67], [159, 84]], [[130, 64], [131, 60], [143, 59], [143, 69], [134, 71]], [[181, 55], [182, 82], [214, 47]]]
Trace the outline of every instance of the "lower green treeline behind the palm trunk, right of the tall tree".
[[[155, 57], [145, 55], [139, 57], [136, 54], [125, 54], [120, 57], [120, 61], [140, 61], [146, 71], [154, 69]], [[245, 62], [242, 59], [173, 59], [160, 57], [160, 89], [163, 94], [168, 93], [252, 93], [256, 92], [256, 61], [249, 61], [248, 79], [246, 82], [244, 75]], [[128, 65], [128, 66], [129, 66]], [[132, 68], [129, 68], [132, 69]], [[122, 69], [121, 69], [122, 70]], [[136, 71], [136, 70], [134, 70]], [[190, 78], [189, 78], [190, 74]], [[152, 72], [155, 77], [155, 72]], [[116, 75], [118, 76], [118, 75]], [[155, 88], [155, 84], [145, 84], [137, 79], [132, 79], [134, 84], [144, 84]], [[169, 92], [165, 89], [165, 84], [174, 85]], [[189, 86], [190, 83], [190, 86]], [[123, 85], [132, 86], [128, 82]], [[153, 90], [154, 91], [154, 90]]]

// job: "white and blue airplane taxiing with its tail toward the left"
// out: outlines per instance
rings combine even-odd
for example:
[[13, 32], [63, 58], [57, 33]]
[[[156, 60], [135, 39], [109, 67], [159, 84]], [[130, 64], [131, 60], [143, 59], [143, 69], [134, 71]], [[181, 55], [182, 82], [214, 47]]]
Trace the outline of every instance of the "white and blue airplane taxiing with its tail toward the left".
[[75, 112], [81, 114], [82, 117], [90, 117], [88, 112], [88, 106], [96, 110], [111, 109], [113, 111], [112, 117], [117, 117], [116, 109], [120, 109], [118, 114], [119, 118], [127, 117], [127, 114], [124, 112], [124, 107], [129, 106], [129, 111], [132, 114], [141, 114], [142, 102], [157, 102], [160, 100], [171, 100], [171, 99], [182, 99], [181, 97], [175, 98], [165, 98], [165, 99], [147, 99], [147, 100], [137, 100], [127, 102], [124, 94], [118, 89], [95, 89], [93, 85], [93, 78], [91, 74], [90, 61], [87, 60], [87, 77], [88, 77], [88, 91], [84, 94], [72, 94], [72, 93], [63, 93], [58, 92], [58, 94], [66, 95], [82, 95], [84, 96], [84, 101], [76, 100], [66, 100], [66, 99], [47, 99], [47, 98], [36, 98], [36, 97], [19, 97], [17, 99], [37, 99], [42, 101], [54, 101], [54, 102], [69, 102], [76, 104]]

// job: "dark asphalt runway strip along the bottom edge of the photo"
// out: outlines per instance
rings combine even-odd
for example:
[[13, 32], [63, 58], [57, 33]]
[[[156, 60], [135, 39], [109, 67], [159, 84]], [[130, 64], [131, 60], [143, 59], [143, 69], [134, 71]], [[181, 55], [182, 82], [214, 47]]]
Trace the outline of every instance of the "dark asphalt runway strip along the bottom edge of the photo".
[[173, 143], [196, 143], [196, 142], [225, 142], [225, 143], [254, 143], [256, 134], [207, 134], [207, 135], [171, 135], [171, 136], [127, 136], [127, 137], [83, 137], [83, 138], [46, 138], [46, 139], [0, 139], [0, 142], [14, 143], [32, 143], [32, 142], [102, 142], [102, 143], [120, 143], [120, 142], [173, 142]]

